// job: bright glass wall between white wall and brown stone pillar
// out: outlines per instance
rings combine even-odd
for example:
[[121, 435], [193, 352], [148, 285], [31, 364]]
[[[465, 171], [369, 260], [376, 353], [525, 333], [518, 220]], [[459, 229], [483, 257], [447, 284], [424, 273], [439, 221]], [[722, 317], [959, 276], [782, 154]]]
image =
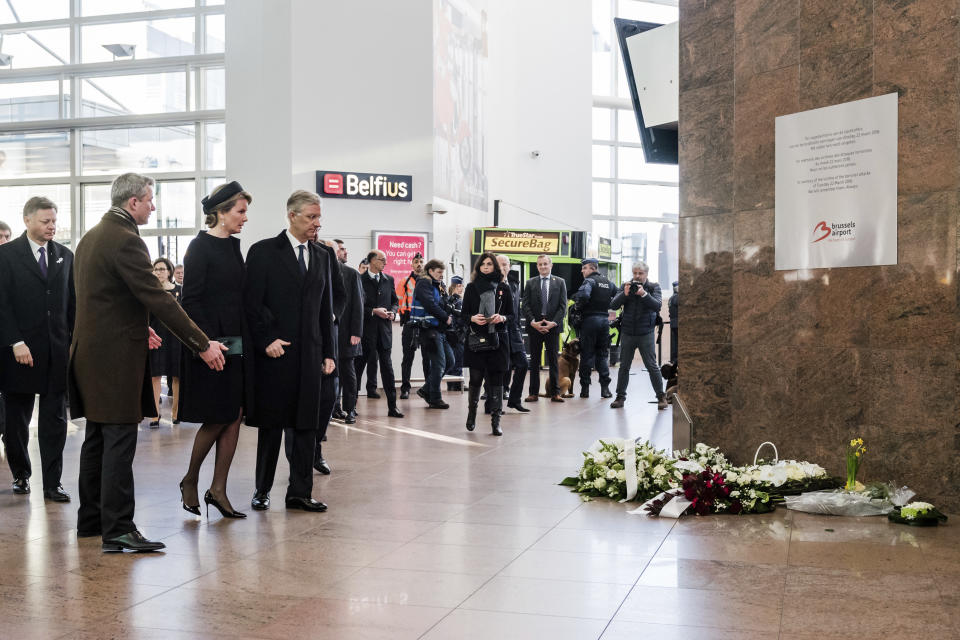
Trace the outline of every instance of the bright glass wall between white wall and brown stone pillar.
[[678, 268], [679, 172], [644, 160], [614, 18], [676, 22], [677, 1], [593, 0], [593, 233], [619, 248], [624, 277], [643, 260], [667, 297]]

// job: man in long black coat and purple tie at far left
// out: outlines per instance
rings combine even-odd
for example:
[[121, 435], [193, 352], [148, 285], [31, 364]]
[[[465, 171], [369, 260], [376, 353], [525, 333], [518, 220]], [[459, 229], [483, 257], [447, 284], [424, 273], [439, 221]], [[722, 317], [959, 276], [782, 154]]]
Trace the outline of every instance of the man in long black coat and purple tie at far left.
[[67, 359], [76, 294], [73, 253], [54, 242], [57, 205], [43, 197], [23, 207], [22, 236], [0, 247], [0, 390], [13, 492], [30, 493], [30, 420], [40, 395], [38, 439], [43, 497], [70, 502], [60, 484], [67, 439]]

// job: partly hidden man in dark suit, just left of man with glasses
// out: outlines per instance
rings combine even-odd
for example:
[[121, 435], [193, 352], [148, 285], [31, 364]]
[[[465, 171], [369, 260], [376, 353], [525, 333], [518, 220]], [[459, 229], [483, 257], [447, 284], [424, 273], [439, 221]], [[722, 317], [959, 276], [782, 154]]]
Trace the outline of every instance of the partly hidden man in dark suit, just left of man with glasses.
[[341, 402], [334, 407], [333, 417], [346, 424], [357, 422], [357, 369], [356, 359], [361, 354], [360, 341], [363, 336], [363, 286], [360, 284], [360, 272], [347, 264], [347, 246], [343, 240], [337, 243], [337, 260], [340, 261], [340, 273], [347, 301], [343, 318], [337, 334], [339, 353], [337, 371], [340, 374], [339, 396]]

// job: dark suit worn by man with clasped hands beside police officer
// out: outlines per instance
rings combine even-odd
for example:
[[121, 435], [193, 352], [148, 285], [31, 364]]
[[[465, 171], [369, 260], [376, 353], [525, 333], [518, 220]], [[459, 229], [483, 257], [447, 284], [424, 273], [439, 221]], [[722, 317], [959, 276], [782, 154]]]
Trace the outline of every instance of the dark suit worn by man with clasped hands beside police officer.
[[[549, 276], [547, 300], [544, 305], [540, 276], [527, 280], [523, 287], [523, 298], [520, 306], [523, 320], [530, 337], [530, 395], [540, 393], [540, 351], [546, 350], [547, 368], [550, 375], [547, 378], [547, 395], [559, 393], [557, 389], [557, 354], [560, 351], [560, 333], [563, 331], [563, 319], [567, 314], [567, 283], [563, 278]], [[540, 333], [530, 326], [531, 322], [539, 320], [556, 322], [555, 326], [546, 333]]]

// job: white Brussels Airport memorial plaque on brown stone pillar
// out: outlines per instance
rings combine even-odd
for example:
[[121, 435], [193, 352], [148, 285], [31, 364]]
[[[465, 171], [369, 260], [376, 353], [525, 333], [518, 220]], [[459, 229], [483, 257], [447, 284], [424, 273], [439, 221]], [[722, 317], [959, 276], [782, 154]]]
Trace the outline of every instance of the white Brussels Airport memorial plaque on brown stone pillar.
[[897, 94], [776, 119], [776, 268], [897, 263]]

